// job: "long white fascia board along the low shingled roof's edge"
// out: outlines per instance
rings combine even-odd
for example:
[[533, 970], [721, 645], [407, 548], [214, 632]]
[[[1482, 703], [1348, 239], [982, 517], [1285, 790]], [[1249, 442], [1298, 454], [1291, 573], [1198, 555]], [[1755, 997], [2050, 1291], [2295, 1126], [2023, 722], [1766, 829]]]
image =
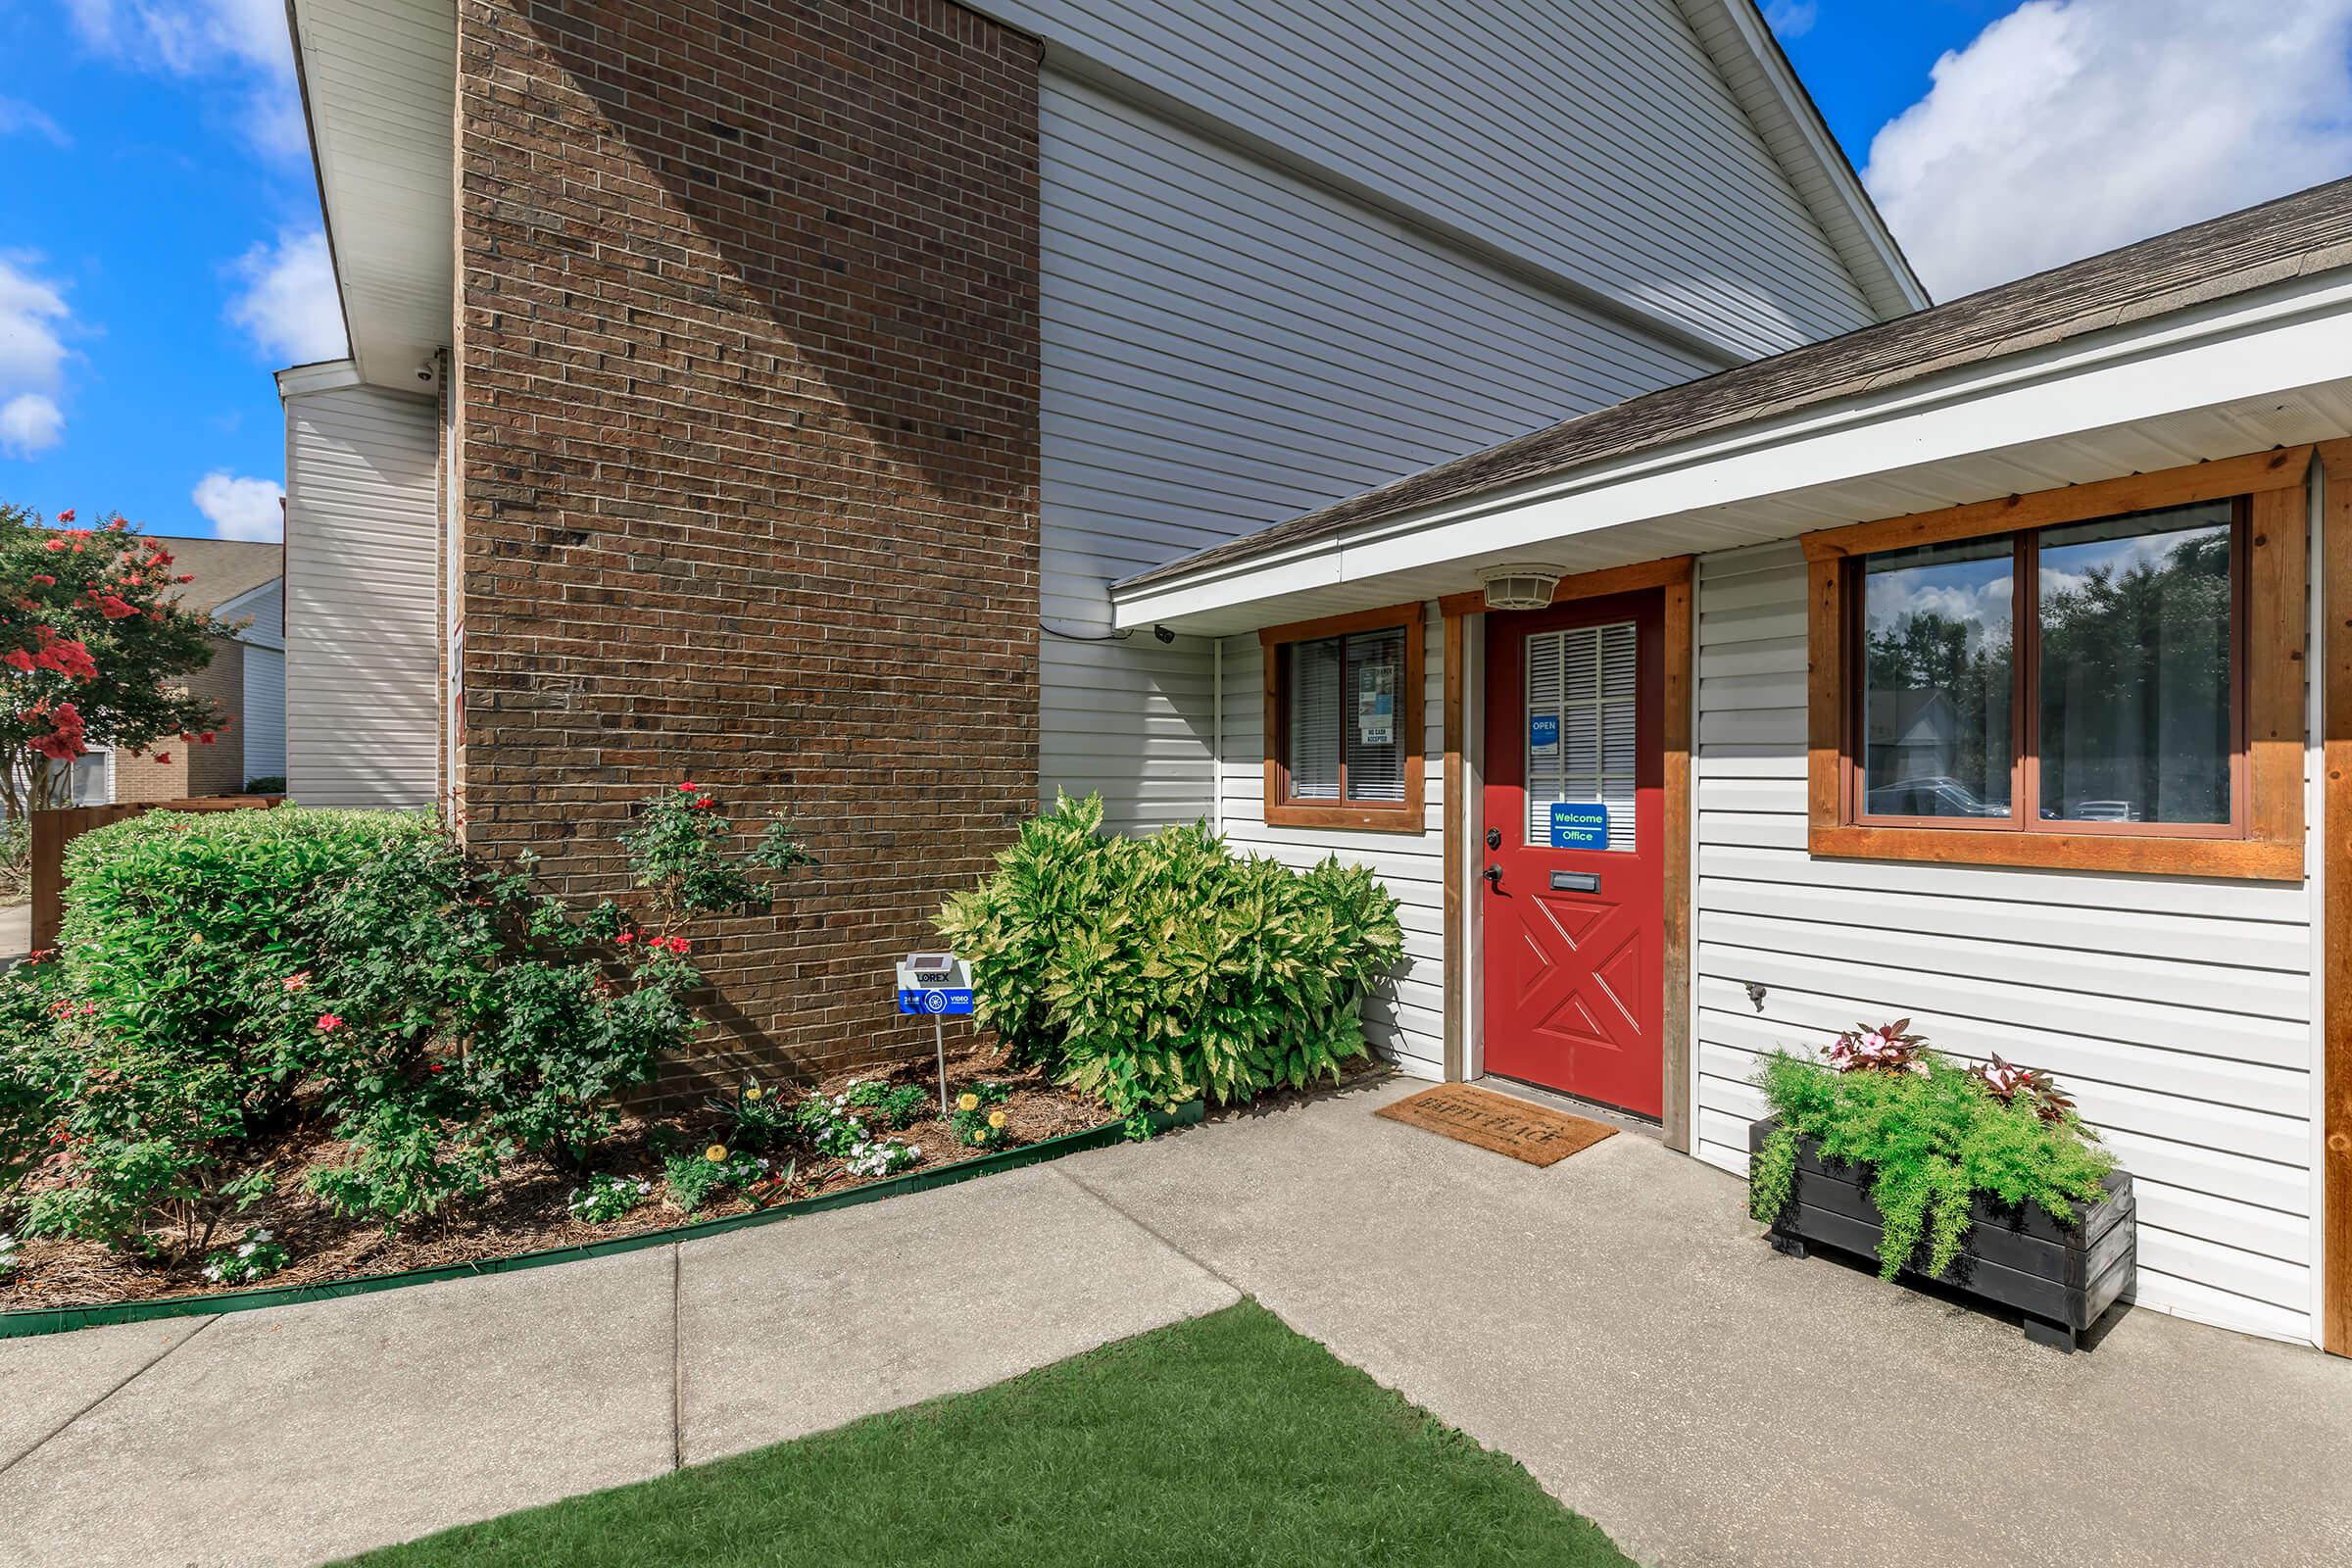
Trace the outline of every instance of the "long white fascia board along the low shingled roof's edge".
[[[2328, 273], [2161, 327], [2074, 339], [1952, 376], [1806, 409], [1769, 425], [1644, 451], [1291, 550], [1136, 590], [1112, 588], [1117, 628], [1232, 609], [1303, 588], [1529, 552], [1651, 517], [1865, 480], [2025, 442], [2340, 381], [2352, 371], [2352, 277]], [[1837, 520], [1825, 520], [1828, 522]]]

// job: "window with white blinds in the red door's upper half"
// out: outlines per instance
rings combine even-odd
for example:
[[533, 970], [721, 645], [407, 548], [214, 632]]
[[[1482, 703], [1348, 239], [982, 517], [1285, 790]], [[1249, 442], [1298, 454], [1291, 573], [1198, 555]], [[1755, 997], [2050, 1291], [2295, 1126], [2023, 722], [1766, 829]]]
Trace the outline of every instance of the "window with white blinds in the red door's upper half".
[[1526, 639], [1526, 842], [1552, 842], [1552, 806], [1609, 809], [1609, 849], [1635, 849], [1639, 682], [1632, 621]]

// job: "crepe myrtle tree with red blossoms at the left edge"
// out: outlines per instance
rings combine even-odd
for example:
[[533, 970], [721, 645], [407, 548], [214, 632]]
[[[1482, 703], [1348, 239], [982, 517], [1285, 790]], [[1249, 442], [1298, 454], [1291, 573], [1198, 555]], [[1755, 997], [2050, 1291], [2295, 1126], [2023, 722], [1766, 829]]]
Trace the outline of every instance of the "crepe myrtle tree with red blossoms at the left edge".
[[[228, 717], [188, 696], [223, 621], [183, 609], [172, 552], [122, 515], [94, 529], [0, 503], [0, 811], [66, 806], [73, 762], [111, 745], [209, 745]], [[169, 762], [169, 752], [158, 752]]]

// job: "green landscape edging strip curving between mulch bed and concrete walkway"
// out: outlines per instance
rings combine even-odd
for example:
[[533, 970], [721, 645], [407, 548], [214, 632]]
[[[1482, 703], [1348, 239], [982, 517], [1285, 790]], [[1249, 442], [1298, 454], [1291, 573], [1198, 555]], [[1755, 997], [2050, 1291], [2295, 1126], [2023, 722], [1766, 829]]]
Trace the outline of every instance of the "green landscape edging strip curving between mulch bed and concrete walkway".
[[[1188, 1126], [1200, 1121], [1209, 1112], [1204, 1100], [1188, 1100], [1174, 1112], [1155, 1110], [1152, 1131], [1167, 1131], [1171, 1126]], [[842, 1192], [828, 1192], [814, 1199], [800, 1199], [797, 1204], [776, 1204], [774, 1208], [755, 1208], [750, 1213], [731, 1213], [722, 1220], [696, 1220], [689, 1225], [670, 1225], [666, 1229], [642, 1229], [633, 1237], [614, 1237], [612, 1241], [581, 1241], [579, 1246], [550, 1246], [539, 1253], [515, 1253], [513, 1258], [485, 1258], [482, 1262], [449, 1262], [437, 1269], [409, 1269], [407, 1274], [358, 1274], [353, 1279], [329, 1279], [315, 1286], [280, 1286], [275, 1291], [221, 1291], [219, 1295], [162, 1295], [143, 1302], [113, 1302], [106, 1307], [35, 1307], [28, 1312], [0, 1312], [0, 1340], [31, 1340], [42, 1333], [68, 1333], [73, 1328], [101, 1328], [108, 1324], [155, 1324], [169, 1316], [214, 1316], [216, 1312], [259, 1312], [263, 1307], [299, 1307], [301, 1302], [325, 1302], [343, 1295], [372, 1295], [374, 1291], [397, 1291], [402, 1286], [428, 1286], [440, 1279], [475, 1279], [480, 1274], [515, 1274], [520, 1269], [543, 1269], [550, 1262], [581, 1262], [586, 1258], [612, 1258], [616, 1253], [640, 1253], [649, 1246], [670, 1246], [673, 1241], [696, 1241], [701, 1237], [724, 1237], [731, 1229], [750, 1229], [753, 1225], [774, 1225], [776, 1220], [790, 1220], [804, 1213], [826, 1213], [828, 1208], [856, 1208], [858, 1204], [877, 1204], [882, 1199], [901, 1197], [908, 1192], [929, 1192], [931, 1187], [953, 1187], [955, 1182], [969, 1182], [978, 1175], [997, 1175], [1000, 1171], [1018, 1171], [1023, 1166], [1037, 1166], [1049, 1159], [1061, 1159], [1063, 1154], [1084, 1154], [1087, 1150], [1103, 1150], [1120, 1143], [1127, 1135], [1124, 1121], [1103, 1121], [1101, 1126], [1089, 1126], [1082, 1133], [1063, 1133], [1061, 1138], [1047, 1138], [1044, 1143], [1030, 1143], [1018, 1150], [1002, 1150], [997, 1154], [981, 1154], [978, 1159], [962, 1159], [953, 1166], [934, 1166], [929, 1171], [908, 1171], [906, 1175], [894, 1175], [882, 1182], [868, 1182], [863, 1187], [844, 1187]]]

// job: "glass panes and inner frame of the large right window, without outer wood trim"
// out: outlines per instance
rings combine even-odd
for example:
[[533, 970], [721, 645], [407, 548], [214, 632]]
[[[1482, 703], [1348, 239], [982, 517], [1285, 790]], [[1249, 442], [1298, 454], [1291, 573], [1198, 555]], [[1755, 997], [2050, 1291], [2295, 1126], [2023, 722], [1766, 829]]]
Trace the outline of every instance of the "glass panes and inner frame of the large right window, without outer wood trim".
[[2244, 512], [1863, 557], [1856, 820], [2241, 837]]

